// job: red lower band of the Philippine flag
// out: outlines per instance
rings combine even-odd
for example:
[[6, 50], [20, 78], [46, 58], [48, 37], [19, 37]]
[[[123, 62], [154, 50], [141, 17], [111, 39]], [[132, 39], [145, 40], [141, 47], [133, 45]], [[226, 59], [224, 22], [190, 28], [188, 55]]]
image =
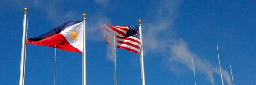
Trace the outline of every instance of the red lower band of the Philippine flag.
[[67, 41], [67, 39], [62, 34], [54, 34], [52, 36], [46, 37], [39, 41], [30, 41], [28, 39], [27, 44], [29, 44], [29, 43], [34, 44], [34, 45], [49, 46], [49, 47], [53, 47], [53, 48], [55, 48], [55, 44], [56, 44], [57, 45], [56, 48], [58, 48], [58, 49], [82, 53], [77, 48], [70, 45], [70, 43]]

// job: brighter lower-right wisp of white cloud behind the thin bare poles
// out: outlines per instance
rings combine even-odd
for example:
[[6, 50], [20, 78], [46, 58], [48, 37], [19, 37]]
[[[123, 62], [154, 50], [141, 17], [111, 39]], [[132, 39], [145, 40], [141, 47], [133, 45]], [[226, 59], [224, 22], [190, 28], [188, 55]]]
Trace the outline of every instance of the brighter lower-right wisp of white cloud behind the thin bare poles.
[[[195, 59], [195, 67], [198, 72], [201, 72], [206, 75], [207, 79], [212, 82], [212, 72], [220, 74], [220, 71], [218, 70], [218, 66], [213, 66], [210, 62], [208, 62], [206, 59], [202, 59], [198, 57], [196, 54], [189, 51], [186, 43], [184, 41], [178, 41], [176, 44], [173, 44], [170, 46], [172, 54], [171, 57], [169, 57], [169, 64], [175, 64], [181, 63], [187, 68], [189, 68], [191, 71], [193, 71], [192, 67], [192, 60], [193, 57]], [[222, 70], [222, 75], [224, 77], [224, 80], [228, 83], [228, 85], [231, 85], [230, 75], [226, 70]], [[213, 82], [212, 82], [213, 83]]]

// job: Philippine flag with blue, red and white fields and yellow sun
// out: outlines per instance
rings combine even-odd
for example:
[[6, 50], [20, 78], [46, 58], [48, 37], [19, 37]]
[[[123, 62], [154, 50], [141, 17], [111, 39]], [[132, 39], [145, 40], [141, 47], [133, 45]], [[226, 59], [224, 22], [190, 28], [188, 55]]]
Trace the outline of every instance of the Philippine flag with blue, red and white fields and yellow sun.
[[82, 53], [83, 51], [83, 22], [68, 21], [42, 34], [38, 37], [28, 38], [27, 44], [44, 45], [65, 50]]

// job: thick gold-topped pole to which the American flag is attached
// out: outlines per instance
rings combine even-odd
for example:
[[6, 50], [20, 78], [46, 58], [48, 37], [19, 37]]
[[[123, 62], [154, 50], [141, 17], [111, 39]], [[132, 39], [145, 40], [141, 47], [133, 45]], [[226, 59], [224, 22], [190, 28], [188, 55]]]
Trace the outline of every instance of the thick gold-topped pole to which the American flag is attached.
[[144, 74], [144, 60], [143, 60], [143, 45], [142, 45], [142, 32], [141, 32], [141, 19], [138, 20], [139, 22], [139, 30], [140, 30], [140, 66], [141, 66], [141, 79], [142, 79], [142, 85], [145, 85], [145, 74]]

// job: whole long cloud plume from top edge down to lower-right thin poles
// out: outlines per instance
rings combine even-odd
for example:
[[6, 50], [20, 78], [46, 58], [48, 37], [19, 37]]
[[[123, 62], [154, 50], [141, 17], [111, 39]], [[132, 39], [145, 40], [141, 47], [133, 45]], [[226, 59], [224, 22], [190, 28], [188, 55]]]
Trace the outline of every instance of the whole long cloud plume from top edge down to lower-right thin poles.
[[[147, 48], [144, 51], [146, 51], [145, 53], [164, 53], [162, 55], [163, 59], [167, 58], [167, 61], [164, 63], [166, 63], [173, 72], [181, 72], [185, 69], [184, 67], [193, 71], [192, 58], [194, 58], [196, 71], [205, 74], [206, 79], [214, 84], [212, 73], [220, 74], [218, 66], [213, 66], [206, 59], [190, 51], [186, 42], [183, 41], [182, 38], [175, 38], [176, 35], [172, 31], [172, 29], [174, 29], [172, 26], [174, 24], [173, 22], [178, 17], [177, 9], [179, 9], [178, 7], [181, 3], [181, 0], [162, 1], [155, 15], [154, 22], [144, 23], [144, 28], [151, 29], [143, 30], [143, 41], [150, 41], [143, 42], [143, 48]], [[224, 80], [228, 85], [231, 85], [229, 73], [225, 70], [222, 70], [222, 73]]]

